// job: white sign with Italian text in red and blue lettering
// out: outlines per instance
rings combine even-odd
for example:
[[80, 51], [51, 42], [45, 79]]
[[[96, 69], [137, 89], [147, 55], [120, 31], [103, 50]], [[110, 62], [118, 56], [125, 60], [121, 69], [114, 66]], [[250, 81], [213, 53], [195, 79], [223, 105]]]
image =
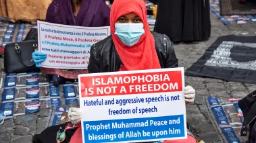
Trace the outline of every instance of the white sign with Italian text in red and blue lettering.
[[45, 68], [87, 69], [91, 46], [110, 35], [107, 27], [66, 26], [38, 21], [39, 52]]

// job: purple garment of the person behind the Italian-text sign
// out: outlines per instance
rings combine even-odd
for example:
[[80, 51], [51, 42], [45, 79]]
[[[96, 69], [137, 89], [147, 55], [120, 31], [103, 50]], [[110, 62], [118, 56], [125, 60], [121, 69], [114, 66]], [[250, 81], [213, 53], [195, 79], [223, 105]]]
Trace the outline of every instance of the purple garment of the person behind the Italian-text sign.
[[47, 9], [45, 21], [70, 26], [109, 26], [110, 9], [105, 0], [82, 0], [76, 17], [71, 3], [71, 0], [53, 0]]

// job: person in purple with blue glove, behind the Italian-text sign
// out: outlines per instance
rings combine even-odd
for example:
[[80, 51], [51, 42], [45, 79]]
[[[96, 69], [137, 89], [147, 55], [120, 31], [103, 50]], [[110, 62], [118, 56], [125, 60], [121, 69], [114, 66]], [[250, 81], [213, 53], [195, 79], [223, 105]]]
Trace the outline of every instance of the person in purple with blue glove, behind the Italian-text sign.
[[[110, 9], [105, 0], [53, 0], [47, 9], [45, 21], [69, 26], [109, 26], [109, 13]], [[39, 68], [46, 58], [43, 52], [32, 53], [32, 59]], [[53, 85], [58, 86], [66, 81], [76, 81], [79, 74], [88, 72], [87, 70], [41, 68], [41, 73], [53, 75]]]

